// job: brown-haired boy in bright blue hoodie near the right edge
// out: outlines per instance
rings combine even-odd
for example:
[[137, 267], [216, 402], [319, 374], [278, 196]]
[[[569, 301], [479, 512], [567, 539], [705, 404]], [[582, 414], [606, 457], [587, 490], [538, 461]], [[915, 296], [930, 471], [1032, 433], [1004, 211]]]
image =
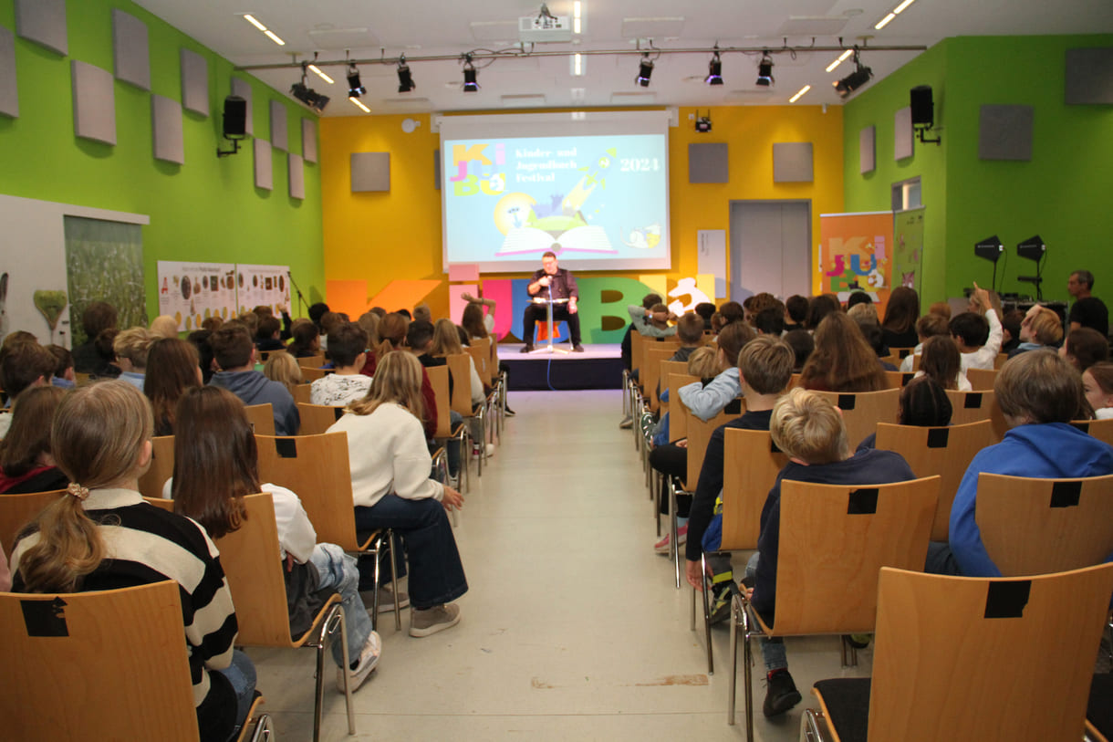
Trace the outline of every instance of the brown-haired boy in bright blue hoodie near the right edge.
[[1011, 429], [1004, 440], [982, 449], [971, 461], [951, 508], [949, 548], [932, 544], [927, 572], [1002, 576], [982, 544], [974, 517], [977, 477], [983, 471], [1047, 479], [1113, 473], [1113, 448], [1068, 424], [1085, 417], [1085, 393], [1078, 371], [1054, 351], [1033, 350], [1009, 359], [993, 390]]

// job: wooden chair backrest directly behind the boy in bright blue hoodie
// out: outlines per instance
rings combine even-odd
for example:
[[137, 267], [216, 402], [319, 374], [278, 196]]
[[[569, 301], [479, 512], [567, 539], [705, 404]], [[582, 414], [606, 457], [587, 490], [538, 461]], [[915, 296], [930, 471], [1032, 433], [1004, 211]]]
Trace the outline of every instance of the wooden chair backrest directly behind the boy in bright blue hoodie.
[[1033, 479], [981, 473], [974, 518], [1003, 575], [1101, 564], [1113, 554], [1113, 475]]

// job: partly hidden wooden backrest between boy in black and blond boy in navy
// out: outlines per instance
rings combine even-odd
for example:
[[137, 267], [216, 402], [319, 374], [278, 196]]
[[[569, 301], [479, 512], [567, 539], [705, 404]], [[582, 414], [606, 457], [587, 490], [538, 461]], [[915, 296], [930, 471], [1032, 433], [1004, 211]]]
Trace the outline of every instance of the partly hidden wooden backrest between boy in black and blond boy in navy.
[[761, 508], [788, 456], [768, 430], [737, 428], [727, 428], [722, 455], [722, 549], [756, 549]]

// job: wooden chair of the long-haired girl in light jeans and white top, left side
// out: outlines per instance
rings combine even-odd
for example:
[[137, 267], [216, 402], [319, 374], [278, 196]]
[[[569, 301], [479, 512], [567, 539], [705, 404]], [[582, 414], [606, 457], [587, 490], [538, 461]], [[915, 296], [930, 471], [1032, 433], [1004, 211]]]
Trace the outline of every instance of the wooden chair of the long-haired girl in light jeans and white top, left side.
[[[269, 492], [244, 498], [247, 517], [235, 531], [216, 539], [220, 564], [228, 578], [232, 599], [236, 604], [243, 646], [273, 648], [313, 647], [317, 651], [316, 702], [313, 712], [313, 739], [321, 739], [321, 720], [325, 697], [325, 655], [333, 642], [339, 641], [347, 657], [347, 625], [341, 596], [333, 593], [313, 617], [308, 631], [299, 637], [289, 633], [286, 584], [283, 563], [278, 558], [278, 527], [275, 524], [274, 499]], [[351, 510], [351, 508], [348, 508]], [[344, 673], [344, 702], [347, 706], [348, 734], [355, 734], [355, 712], [348, 675]]]

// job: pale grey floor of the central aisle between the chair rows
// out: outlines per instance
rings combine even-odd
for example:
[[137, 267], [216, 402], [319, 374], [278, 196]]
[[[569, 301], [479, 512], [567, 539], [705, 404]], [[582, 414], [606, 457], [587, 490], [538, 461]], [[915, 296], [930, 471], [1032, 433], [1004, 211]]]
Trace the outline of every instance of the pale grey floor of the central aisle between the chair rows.
[[[455, 531], [471, 586], [461, 623], [412, 638], [405, 612], [401, 632], [384, 616], [382, 662], [354, 695], [355, 738], [329, 662], [322, 739], [745, 740], [741, 682], [738, 725], [727, 724], [728, 633], [715, 631], [709, 676], [702, 629], [689, 631], [691, 592], [674, 588], [671, 563], [653, 553], [620, 393], [510, 397], [518, 417], [473, 476]], [[313, 652], [248, 653], [278, 739], [312, 739]], [[811, 683], [868, 674], [870, 658], [840, 670], [835, 638], [790, 641], [805, 702], [767, 722], [756, 668], [757, 739], [798, 740]]]

